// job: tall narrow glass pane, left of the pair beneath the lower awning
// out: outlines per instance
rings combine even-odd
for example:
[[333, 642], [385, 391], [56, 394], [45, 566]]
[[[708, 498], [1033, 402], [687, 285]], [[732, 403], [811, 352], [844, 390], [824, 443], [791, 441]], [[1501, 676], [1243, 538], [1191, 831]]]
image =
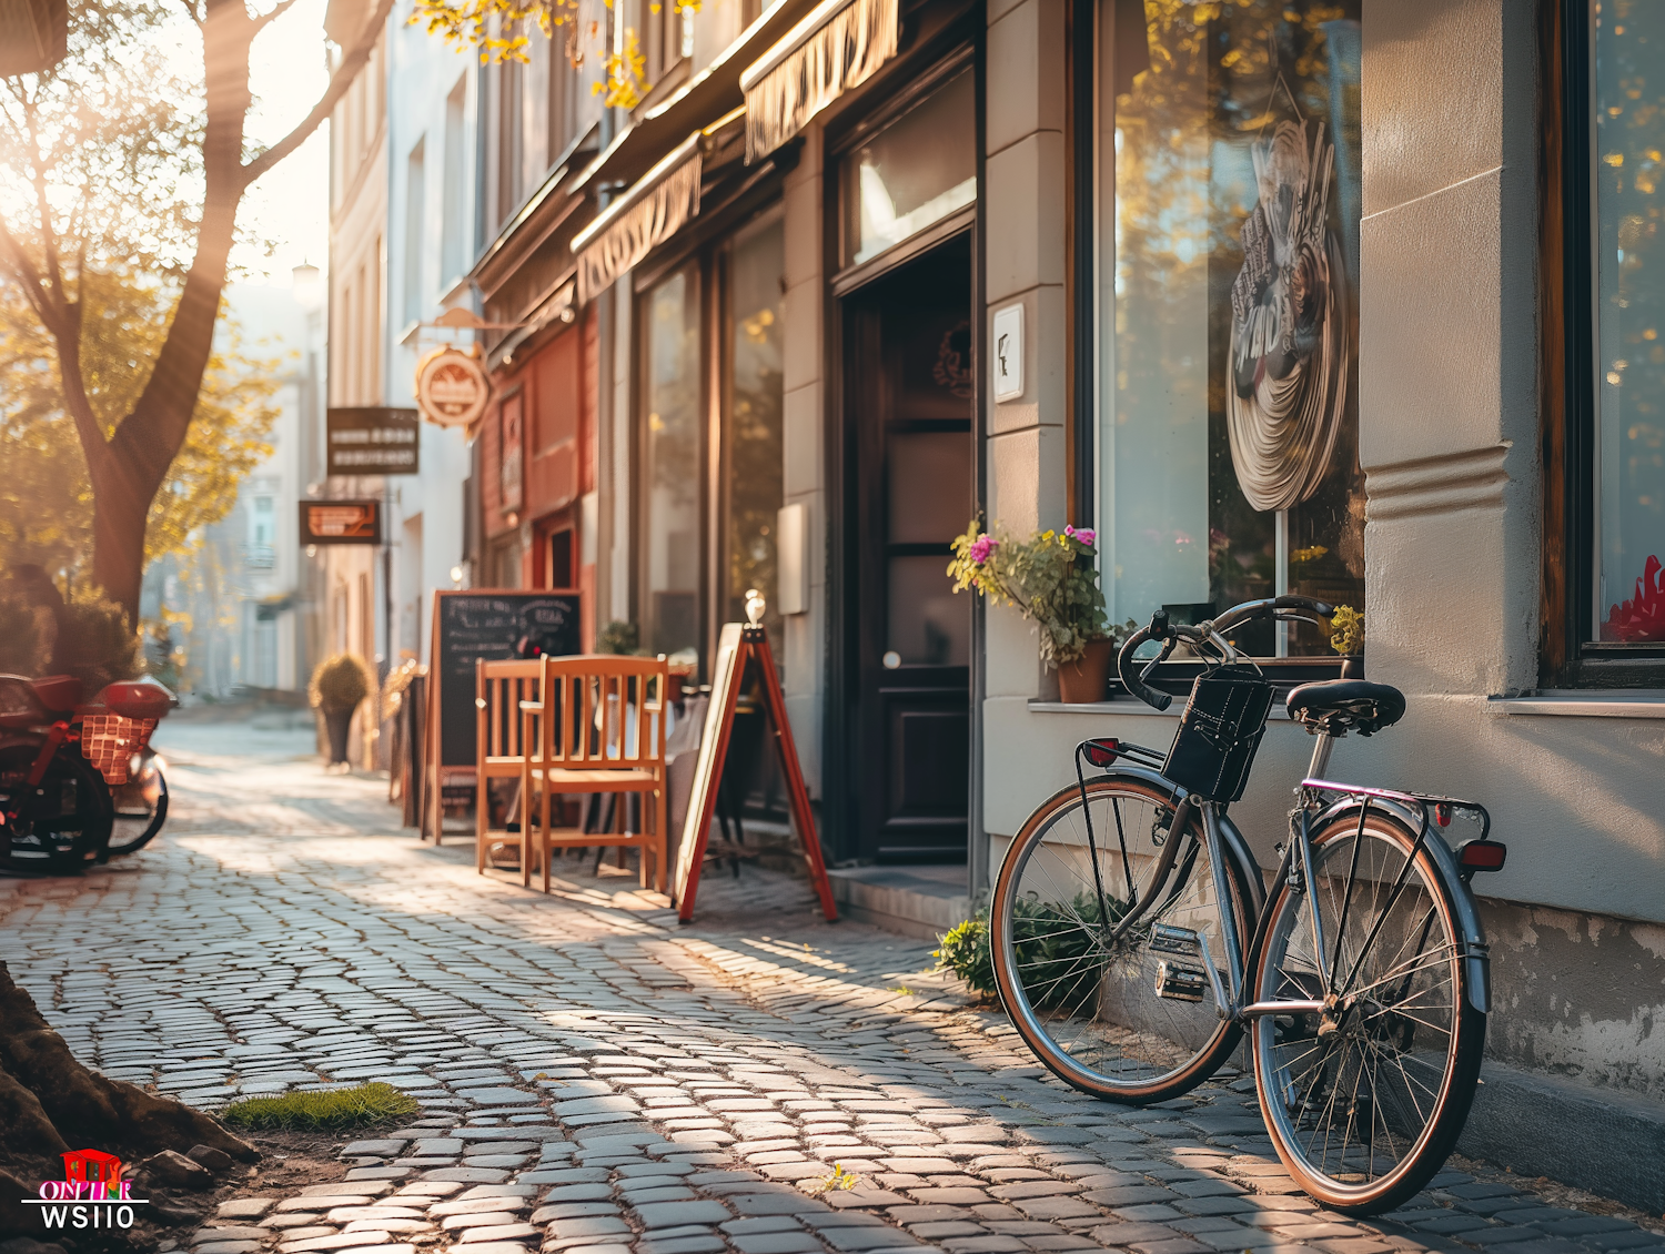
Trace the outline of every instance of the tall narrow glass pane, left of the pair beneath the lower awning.
[[646, 300], [641, 433], [643, 644], [699, 649], [699, 270], [684, 266]]

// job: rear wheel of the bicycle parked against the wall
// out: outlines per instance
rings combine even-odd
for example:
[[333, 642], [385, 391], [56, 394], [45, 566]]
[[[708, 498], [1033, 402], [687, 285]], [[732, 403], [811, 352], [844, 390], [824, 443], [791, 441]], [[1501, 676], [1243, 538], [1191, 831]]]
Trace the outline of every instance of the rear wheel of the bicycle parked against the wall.
[[[1360, 833], [1372, 841], [1369, 859]], [[1474, 1102], [1485, 1014], [1470, 1001], [1462, 958], [1455, 901], [1464, 888], [1447, 879], [1425, 848], [1415, 849], [1414, 831], [1384, 811], [1370, 811], [1364, 824], [1357, 814], [1337, 816], [1312, 846], [1325, 961], [1344, 989], [1377, 993], [1360, 996], [1337, 1018], [1260, 1018], [1250, 1031], [1255, 1087], [1267, 1134], [1295, 1182], [1335, 1211], [1380, 1214], [1412, 1197], [1440, 1169]], [[1342, 861], [1349, 864], [1345, 881], [1325, 874], [1342, 871]], [[1412, 866], [1395, 896], [1392, 884], [1405, 861]], [[1354, 904], [1344, 906], [1347, 898]], [[1312, 959], [1305, 893], [1285, 879], [1267, 911], [1250, 984], [1255, 1001], [1320, 999], [1325, 989]], [[1337, 943], [1337, 931], [1344, 943]], [[1415, 948], [1407, 954], [1412, 938]], [[1330, 956], [1340, 956], [1340, 963]], [[1357, 974], [1349, 983], [1344, 971]], [[1334, 1024], [1327, 1033], [1325, 1021]], [[1302, 1061], [1305, 1069], [1297, 1067]], [[1435, 1066], [1437, 1084], [1430, 1072]], [[1425, 1114], [1419, 1089], [1429, 1097]], [[1342, 1096], [1347, 1109], [1337, 1144]], [[1379, 1137], [1385, 1137], [1385, 1147]]]

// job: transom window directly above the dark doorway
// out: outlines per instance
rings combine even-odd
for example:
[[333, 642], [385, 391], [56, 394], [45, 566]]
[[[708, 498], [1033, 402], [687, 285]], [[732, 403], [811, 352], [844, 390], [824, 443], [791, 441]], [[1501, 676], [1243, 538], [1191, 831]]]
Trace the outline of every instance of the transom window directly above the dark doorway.
[[972, 72], [962, 70], [844, 157], [844, 265], [977, 200], [976, 117]]

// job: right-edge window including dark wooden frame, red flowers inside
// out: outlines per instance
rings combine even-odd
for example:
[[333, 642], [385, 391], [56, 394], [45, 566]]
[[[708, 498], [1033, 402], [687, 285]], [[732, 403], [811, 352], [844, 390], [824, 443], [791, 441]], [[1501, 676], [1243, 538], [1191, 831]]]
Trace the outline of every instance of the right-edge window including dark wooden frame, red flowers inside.
[[[1542, 42], [1545, 681], [1665, 683], [1665, 8], [1567, 0]], [[1553, 316], [1560, 315], [1560, 316]], [[1555, 463], [1560, 463], [1558, 466]], [[1557, 473], [1558, 471], [1558, 473]]]

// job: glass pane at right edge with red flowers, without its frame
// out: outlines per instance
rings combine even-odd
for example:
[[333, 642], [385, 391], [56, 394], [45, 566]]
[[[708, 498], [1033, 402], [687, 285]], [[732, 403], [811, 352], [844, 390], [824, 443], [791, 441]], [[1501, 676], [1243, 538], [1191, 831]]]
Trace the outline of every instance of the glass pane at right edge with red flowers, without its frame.
[[1665, 5], [1602, 0], [1595, 43], [1593, 638], [1665, 643]]

